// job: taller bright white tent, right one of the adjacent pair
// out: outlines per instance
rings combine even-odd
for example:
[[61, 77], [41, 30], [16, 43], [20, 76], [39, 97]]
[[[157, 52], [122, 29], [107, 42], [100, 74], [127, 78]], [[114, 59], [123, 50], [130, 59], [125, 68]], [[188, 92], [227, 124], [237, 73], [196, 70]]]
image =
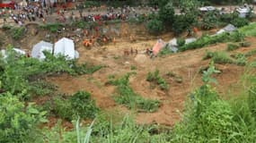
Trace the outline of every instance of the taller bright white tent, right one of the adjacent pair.
[[54, 45], [54, 55], [65, 55], [67, 59], [75, 59], [75, 44], [72, 39], [61, 38]]

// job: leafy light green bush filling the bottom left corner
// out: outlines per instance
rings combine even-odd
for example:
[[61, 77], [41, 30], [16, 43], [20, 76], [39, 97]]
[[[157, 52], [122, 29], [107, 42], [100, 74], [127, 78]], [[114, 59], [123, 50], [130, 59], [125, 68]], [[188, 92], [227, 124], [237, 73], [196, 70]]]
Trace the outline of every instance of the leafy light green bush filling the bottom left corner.
[[0, 95], [0, 142], [36, 142], [37, 125], [47, 122], [45, 112], [33, 105], [25, 105], [17, 97], [7, 93]]

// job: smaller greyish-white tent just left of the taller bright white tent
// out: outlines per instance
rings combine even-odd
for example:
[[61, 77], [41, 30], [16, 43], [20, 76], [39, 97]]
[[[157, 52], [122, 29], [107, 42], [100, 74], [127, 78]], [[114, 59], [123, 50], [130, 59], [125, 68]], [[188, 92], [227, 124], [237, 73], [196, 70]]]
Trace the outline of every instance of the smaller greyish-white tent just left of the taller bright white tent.
[[45, 55], [43, 54], [43, 51], [49, 51], [49, 53], [52, 53], [53, 45], [51, 43], [40, 41], [40, 43], [33, 46], [31, 51], [31, 56], [34, 58], [38, 58], [40, 60], [45, 59]]

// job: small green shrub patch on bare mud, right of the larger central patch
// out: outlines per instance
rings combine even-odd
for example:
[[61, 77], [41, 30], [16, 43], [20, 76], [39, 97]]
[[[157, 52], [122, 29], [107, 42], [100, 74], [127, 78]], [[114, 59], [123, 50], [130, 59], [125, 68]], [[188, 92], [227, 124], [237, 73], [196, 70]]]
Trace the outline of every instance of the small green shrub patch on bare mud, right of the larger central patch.
[[160, 77], [158, 70], [155, 70], [154, 72], [148, 72], [146, 75], [146, 80], [157, 84], [162, 90], [169, 89], [167, 82], [162, 77]]

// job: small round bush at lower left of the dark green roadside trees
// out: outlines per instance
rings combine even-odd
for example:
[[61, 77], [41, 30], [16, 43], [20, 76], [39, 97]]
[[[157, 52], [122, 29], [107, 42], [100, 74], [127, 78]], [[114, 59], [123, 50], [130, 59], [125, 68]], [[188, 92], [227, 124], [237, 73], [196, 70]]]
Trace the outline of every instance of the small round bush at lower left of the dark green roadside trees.
[[153, 34], [163, 31], [163, 22], [158, 20], [150, 20], [146, 23], [146, 29]]

